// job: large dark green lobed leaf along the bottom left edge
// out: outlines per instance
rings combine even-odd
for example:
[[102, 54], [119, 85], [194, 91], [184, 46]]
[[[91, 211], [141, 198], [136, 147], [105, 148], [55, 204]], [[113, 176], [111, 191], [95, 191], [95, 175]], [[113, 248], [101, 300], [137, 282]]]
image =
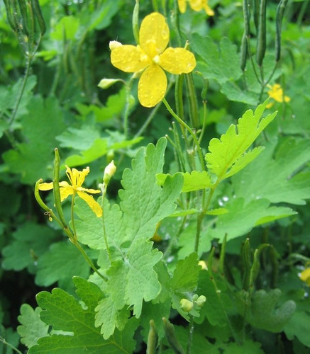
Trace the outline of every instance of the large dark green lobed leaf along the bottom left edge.
[[[120, 333], [116, 331], [109, 340], [104, 340], [100, 330], [94, 326], [94, 306], [103, 297], [99, 287], [82, 278], [74, 278], [77, 293], [84, 304], [61, 289], [40, 292], [37, 301], [43, 311], [40, 317], [58, 331], [69, 333], [53, 334], [38, 340], [30, 354], [36, 353], [133, 353], [133, 333], [138, 321], [131, 319]], [[90, 298], [89, 298], [90, 295]]]

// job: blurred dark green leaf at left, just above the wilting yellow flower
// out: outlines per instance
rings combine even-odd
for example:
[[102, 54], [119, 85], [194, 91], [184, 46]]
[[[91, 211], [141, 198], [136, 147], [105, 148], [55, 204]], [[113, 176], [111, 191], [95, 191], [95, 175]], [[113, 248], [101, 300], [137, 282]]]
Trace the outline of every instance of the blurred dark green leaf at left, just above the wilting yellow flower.
[[52, 154], [57, 146], [55, 137], [65, 128], [57, 99], [33, 96], [22, 124], [26, 142], [3, 156], [11, 173], [21, 173], [21, 182], [33, 185], [39, 178], [50, 177]]

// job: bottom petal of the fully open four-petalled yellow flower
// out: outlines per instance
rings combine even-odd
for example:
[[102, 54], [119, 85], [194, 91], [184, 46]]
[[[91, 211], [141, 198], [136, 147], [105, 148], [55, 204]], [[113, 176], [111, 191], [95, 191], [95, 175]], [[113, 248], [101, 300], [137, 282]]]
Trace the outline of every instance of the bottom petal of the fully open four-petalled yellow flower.
[[138, 98], [144, 107], [154, 107], [164, 98], [167, 89], [165, 72], [156, 64], [150, 65], [140, 77]]

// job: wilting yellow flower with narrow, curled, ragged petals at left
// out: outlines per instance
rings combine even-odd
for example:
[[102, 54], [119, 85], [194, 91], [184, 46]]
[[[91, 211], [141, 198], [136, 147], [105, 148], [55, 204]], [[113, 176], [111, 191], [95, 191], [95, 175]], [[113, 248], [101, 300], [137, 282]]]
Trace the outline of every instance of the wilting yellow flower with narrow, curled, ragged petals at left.
[[[79, 198], [82, 198], [87, 202], [89, 207], [94, 211], [97, 217], [101, 217], [102, 215], [102, 209], [100, 205], [94, 200], [92, 195], [88, 195], [87, 193], [100, 193], [100, 190], [95, 190], [95, 189], [87, 189], [82, 187], [82, 184], [84, 183], [85, 177], [89, 173], [89, 167], [86, 169], [83, 169], [83, 171], [77, 171], [77, 169], [70, 169], [70, 167], [66, 166], [67, 170], [67, 176], [69, 178], [69, 181], [71, 184], [67, 182], [60, 182], [60, 200], [63, 201], [69, 195], [74, 195], [77, 193], [79, 195]], [[51, 190], [52, 189], [52, 182], [51, 183], [40, 183], [39, 185], [39, 190]]]

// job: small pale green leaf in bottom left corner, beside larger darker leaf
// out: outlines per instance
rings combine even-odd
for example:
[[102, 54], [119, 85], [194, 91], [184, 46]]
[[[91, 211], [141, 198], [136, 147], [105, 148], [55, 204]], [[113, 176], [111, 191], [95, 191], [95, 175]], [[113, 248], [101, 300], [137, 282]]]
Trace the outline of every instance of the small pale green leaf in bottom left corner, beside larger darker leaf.
[[21, 336], [21, 343], [28, 348], [35, 346], [38, 338], [48, 336], [48, 325], [40, 319], [42, 309], [33, 309], [28, 304], [21, 305], [21, 315], [18, 321], [21, 326], [17, 327], [18, 334]]

